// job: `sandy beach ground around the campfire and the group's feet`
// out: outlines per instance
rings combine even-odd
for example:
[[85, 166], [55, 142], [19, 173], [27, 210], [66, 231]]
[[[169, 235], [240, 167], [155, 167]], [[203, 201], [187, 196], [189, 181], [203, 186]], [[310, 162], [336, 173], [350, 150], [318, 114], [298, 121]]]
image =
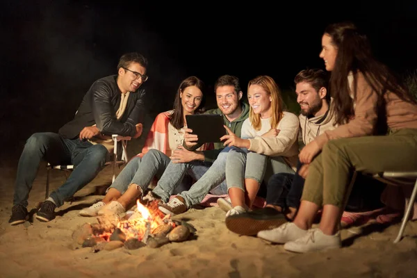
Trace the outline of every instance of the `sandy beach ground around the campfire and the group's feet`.
[[[309, 254], [286, 252], [259, 238], [238, 236], [224, 225], [218, 207], [192, 208], [174, 219], [188, 220], [196, 238], [152, 249], [142, 247], [92, 253], [72, 233], [81, 224], [97, 222], [78, 215], [101, 199], [99, 188], [111, 181], [104, 169], [76, 193], [74, 202], [58, 208], [51, 222], [8, 224], [15, 167], [0, 168], [0, 277], [417, 277], [417, 222], [409, 222], [400, 243], [400, 224], [367, 224], [341, 231], [343, 248]], [[51, 174], [51, 190], [64, 181]], [[28, 209], [44, 200], [46, 171], [41, 165]]]

